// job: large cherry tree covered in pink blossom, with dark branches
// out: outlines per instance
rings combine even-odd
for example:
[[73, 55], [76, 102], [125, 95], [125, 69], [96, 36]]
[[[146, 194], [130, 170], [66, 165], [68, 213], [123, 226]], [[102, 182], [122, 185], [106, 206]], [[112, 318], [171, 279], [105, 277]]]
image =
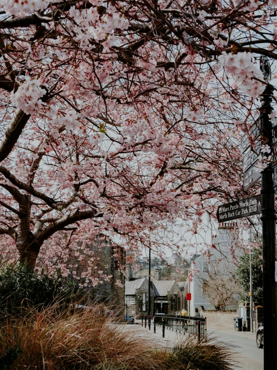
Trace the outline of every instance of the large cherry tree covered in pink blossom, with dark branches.
[[9, 258], [65, 262], [98, 234], [136, 251], [149, 229], [162, 253], [177, 219], [195, 234], [216, 200], [239, 197], [275, 5], [0, 0]]

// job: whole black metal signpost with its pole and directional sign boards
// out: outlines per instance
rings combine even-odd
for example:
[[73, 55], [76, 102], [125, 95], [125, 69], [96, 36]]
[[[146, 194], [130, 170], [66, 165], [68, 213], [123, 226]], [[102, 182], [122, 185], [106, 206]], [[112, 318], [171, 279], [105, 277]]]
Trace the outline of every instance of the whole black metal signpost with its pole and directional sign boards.
[[270, 146], [272, 163], [261, 173], [255, 171], [259, 148], [254, 148], [256, 153], [252, 153], [245, 135], [241, 140], [241, 151], [244, 153], [244, 189], [254, 185], [261, 176], [260, 195], [223, 204], [218, 207], [216, 213], [218, 222], [261, 213], [264, 370], [277, 369], [277, 251], [274, 190], [274, 187], [277, 186], [277, 126], [273, 128], [269, 120], [269, 114], [272, 111], [270, 106], [272, 94], [273, 87], [267, 85], [261, 95], [260, 122], [259, 124], [255, 122], [250, 129], [252, 137], [259, 137], [261, 144]]

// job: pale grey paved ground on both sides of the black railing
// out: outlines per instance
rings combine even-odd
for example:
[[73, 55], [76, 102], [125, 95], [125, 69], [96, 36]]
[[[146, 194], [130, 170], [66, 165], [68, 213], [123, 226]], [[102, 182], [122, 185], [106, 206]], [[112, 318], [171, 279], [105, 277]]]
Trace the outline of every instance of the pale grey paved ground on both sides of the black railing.
[[[136, 335], [144, 337], [152, 342], [154, 347], [165, 347], [170, 350], [176, 342], [183, 339], [185, 335], [182, 332], [169, 330], [165, 328], [164, 338], [162, 338], [162, 329], [156, 326], [156, 333], [151, 329], [141, 327], [141, 321], [136, 320], [135, 324], [124, 326], [123, 330], [136, 331]], [[234, 329], [221, 327], [207, 327], [207, 333], [214, 338], [216, 342], [227, 344], [235, 352], [234, 358], [239, 361], [239, 370], [262, 370], [263, 369], [263, 349], [257, 348], [255, 333], [245, 331], [234, 331]], [[234, 367], [234, 368], [238, 368]]]

